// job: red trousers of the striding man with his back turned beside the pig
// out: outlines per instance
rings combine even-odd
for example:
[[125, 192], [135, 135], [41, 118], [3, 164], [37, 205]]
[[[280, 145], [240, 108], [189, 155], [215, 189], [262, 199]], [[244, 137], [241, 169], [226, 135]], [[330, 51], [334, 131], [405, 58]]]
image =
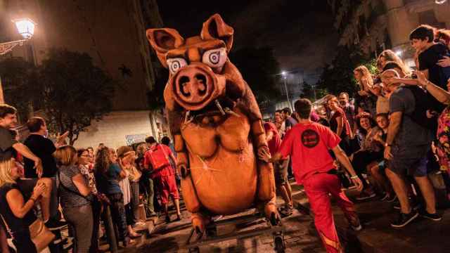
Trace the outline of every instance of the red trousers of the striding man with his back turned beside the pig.
[[358, 216], [353, 203], [340, 190], [340, 180], [333, 174], [314, 174], [303, 182], [311, 210], [314, 212], [314, 223], [321, 236], [326, 252], [344, 252], [340, 245], [338, 233], [331, 212], [331, 194], [335, 197], [338, 206], [342, 209], [349, 223], [359, 225]]

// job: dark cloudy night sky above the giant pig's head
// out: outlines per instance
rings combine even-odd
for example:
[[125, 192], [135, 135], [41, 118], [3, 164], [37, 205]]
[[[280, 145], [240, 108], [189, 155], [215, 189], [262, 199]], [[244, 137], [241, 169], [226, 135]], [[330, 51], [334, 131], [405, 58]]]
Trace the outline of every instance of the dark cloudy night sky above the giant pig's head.
[[338, 40], [326, 0], [161, 0], [158, 6], [164, 26], [185, 38], [199, 35], [203, 22], [219, 13], [234, 28], [234, 47], [271, 46], [283, 70], [323, 67]]

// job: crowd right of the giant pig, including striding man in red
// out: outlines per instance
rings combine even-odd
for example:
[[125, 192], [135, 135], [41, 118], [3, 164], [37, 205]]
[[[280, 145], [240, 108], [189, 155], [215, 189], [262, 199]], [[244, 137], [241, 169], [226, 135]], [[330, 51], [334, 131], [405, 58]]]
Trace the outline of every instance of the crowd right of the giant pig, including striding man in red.
[[[333, 222], [324, 225], [330, 221], [331, 211], [325, 211], [329, 204], [318, 195], [333, 195], [338, 205], [345, 199], [332, 186], [324, 188], [317, 183], [328, 181], [326, 176], [319, 176], [323, 172], [338, 176], [344, 187], [353, 183], [360, 188], [356, 200], [367, 201], [378, 196], [379, 200], [392, 202], [392, 207], [399, 209], [398, 218], [390, 224], [393, 228], [402, 228], [418, 216], [432, 221], [442, 219], [436, 209], [430, 174], [442, 176], [446, 201], [450, 200], [450, 31], [420, 25], [411, 32], [410, 40], [416, 50], [415, 70], [393, 51], [383, 51], [376, 61], [378, 72], [371, 73], [364, 65], [354, 69], [359, 86], [354, 100], [349, 100], [347, 91], [338, 96], [329, 94], [322, 99], [323, 104], [314, 106], [302, 98], [295, 103], [296, 111], [292, 115], [283, 113], [290, 112], [289, 108], [275, 112], [275, 130], [270, 127], [272, 123], [265, 124], [266, 133], [274, 134], [267, 134], [269, 151], [260, 153], [259, 157], [274, 162], [276, 177], [283, 174], [280, 165], [283, 161], [295, 162], [297, 157], [302, 157], [302, 161], [297, 160], [293, 174], [297, 183], [304, 185], [327, 252], [339, 252], [342, 248], [329, 230]], [[334, 134], [330, 136], [319, 124]], [[328, 148], [323, 160], [333, 157], [333, 167], [338, 172], [329, 164], [321, 167], [318, 161], [308, 162], [307, 154], [311, 150], [314, 157], [321, 157], [321, 145]], [[346, 164], [347, 159], [342, 158], [340, 150], [351, 164]], [[314, 166], [318, 166], [316, 172], [308, 174]], [[283, 196], [280, 183], [277, 188]], [[283, 199], [286, 203], [290, 200]], [[321, 202], [321, 207], [314, 207], [316, 202]], [[342, 206], [346, 213], [345, 208]], [[349, 216], [347, 219], [352, 228], [359, 228], [355, 219]]]

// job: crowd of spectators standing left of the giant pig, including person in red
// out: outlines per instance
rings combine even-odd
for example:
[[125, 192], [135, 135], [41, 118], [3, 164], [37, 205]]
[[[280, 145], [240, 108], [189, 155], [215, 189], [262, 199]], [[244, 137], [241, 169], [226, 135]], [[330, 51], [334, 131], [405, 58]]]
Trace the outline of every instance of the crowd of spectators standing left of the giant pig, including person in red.
[[[98, 252], [107, 207], [124, 247], [141, 236], [135, 228], [146, 225], [146, 217], [162, 212], [165, 221], [171, 221], [169, 197], [174, 200], [176, 221], [181, 219], [176, 157], [169, 138], [164, 138], [165, 145], [148, 137], [136, 150], [131, 146], [116, 150], [103, 143], [95, 151], [76, 149], [65, 143], [68, 133], [51, 141], [45, 120], [31, 117], [26, 123], [30, 134], [20, 143], [14, 130], [16, 115], [12, 106], [0, 105], [2, 252], [12, 248], [37, 252], [37, 237], [42, 235], [34, 235], [32, 226], [38, 222], [54, 233], [68, 227], [73, 252]], [[140, 215], [140, 206], [146, 216]]]

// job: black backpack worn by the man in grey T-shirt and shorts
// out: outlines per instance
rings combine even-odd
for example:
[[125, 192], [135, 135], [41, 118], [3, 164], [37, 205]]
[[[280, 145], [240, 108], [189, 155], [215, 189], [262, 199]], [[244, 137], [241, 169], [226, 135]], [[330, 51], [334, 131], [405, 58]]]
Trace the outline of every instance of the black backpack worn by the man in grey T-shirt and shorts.
[[403, 86], [405, 89], [409, 89], [416, 100], [416, 107], [413, 112], [411, 112], [409, 118], [424, 127], [425, 129], [437, 129], [437, 119], [436, 117], [427, 117], [427, 111], [432, 109], [432, 102], [430, 101], [430, 93], [424, 91], [418, 86]]

